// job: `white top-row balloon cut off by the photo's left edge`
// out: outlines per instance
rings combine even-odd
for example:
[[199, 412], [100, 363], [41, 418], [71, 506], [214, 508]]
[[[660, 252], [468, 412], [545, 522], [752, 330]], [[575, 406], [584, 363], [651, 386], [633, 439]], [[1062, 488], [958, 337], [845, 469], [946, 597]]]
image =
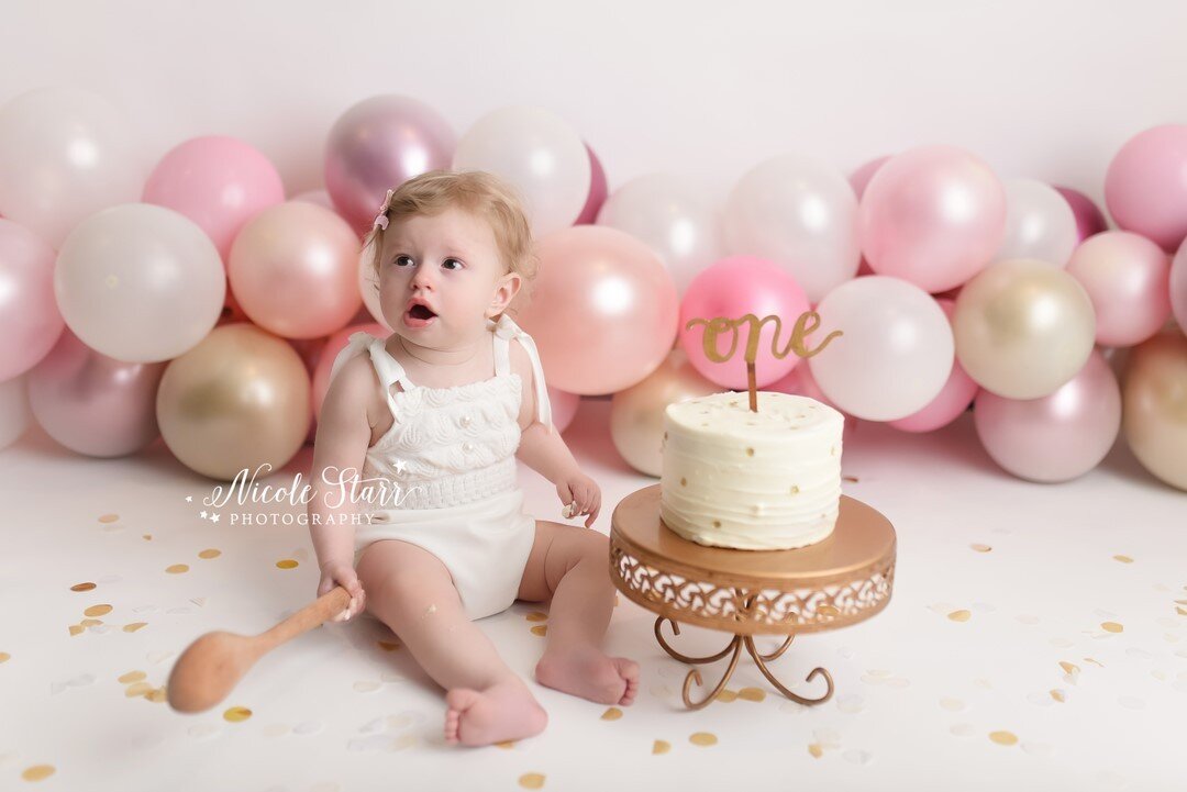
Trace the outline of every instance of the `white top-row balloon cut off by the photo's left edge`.
[[21, 94], [0, 108], [0, 213], [59, 248], [82, 218], [140, 199], [142, 151], [123, 114], [97, 94]]

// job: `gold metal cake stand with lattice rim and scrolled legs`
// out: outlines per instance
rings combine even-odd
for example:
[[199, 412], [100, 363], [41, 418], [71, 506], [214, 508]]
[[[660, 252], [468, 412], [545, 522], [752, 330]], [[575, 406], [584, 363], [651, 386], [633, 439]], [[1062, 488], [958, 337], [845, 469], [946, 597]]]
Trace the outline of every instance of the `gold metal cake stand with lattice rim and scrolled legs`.
[[[713, 663], [732, 652], [725, 676], [705, 698], [692, 701], [692, 683], [703, 685], [693, 669], [684, 679], [684, 703], [700, 709], [713, 701], [737, 666], [742, 647], [781, 694], [801, 704], [823, 704], [832, 697], [832, 676], [815, 668], [827, 689], [819, 698], [799, 696], [767, 668], [801, 632], [848, 627], [869, 619], [890, 601], [894, 585], [895, 532], [890, 522], [861, 500], [840, 496], [837, 525], [829, 538], [795, 550], [735, 550], [690, 542], [660, 519], [660, 485], [623, 498], [610, 525], [610, 579], [640, 606], [658, 613], [655, 639], [688, 664]], [[660, 632], [664, 620], [680, 634], [678, 622], [732, 633], [730, 644], [707, 657], [687, 657], [672, 649]], [[762, 654], [754, 635], [781, 634], [787, 640]]]

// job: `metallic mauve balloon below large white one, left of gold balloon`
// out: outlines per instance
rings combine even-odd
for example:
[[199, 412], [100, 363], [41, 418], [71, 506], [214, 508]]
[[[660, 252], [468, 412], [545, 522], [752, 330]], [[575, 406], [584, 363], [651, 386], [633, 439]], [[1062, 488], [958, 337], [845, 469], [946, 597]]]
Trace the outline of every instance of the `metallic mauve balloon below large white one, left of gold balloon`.
[[157, 387], [167, 362], [123, 363], [90, 349], [69, 328], [28, 373], [37, 422], [88, 456], [123, 456], [157, 439]]

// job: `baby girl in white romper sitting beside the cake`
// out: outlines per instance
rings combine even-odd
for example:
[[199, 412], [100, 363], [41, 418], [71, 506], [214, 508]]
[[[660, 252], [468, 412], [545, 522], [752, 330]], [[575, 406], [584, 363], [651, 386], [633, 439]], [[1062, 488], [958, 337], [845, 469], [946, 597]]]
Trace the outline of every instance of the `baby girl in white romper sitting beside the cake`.
[[[630, 704], [639, 664], [599, 649], [615, 601], [608, 539], [590, 528], [601, 491], [552, 424], [535, 343], [506, 313], [535, 274], [521, 204], [489, 173], [424, 173], [388, 191], [366, 251], [395, 332], [355, 333], [331, 370], [311, 475], [318, 595], [344, 587], [336, 620], [369, 613], [401, 638], [447, 691], [450, 743], [547, 723], [474, 624], [515, 600], [551, 600], [537, 682]], [[522, 511], [516, 458], [556, 485], [565, 516], [589, 515], [584, 528]], [[383, 483], [399, 502], [357, 506], [344, 525], [356, 506], [336, 503], [339, 480]]]

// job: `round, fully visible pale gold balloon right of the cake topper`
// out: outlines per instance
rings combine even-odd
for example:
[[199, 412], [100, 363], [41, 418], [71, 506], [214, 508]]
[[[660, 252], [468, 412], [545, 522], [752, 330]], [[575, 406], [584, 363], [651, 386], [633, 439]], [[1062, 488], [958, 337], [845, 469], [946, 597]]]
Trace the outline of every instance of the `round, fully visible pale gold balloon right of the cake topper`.
[[986, 390], [1040, 398], [1084, 368], [1096, 339], [1087, 292], [1033, 258], [991, 264], [960, 289], [952, 317], [957, 359]]

